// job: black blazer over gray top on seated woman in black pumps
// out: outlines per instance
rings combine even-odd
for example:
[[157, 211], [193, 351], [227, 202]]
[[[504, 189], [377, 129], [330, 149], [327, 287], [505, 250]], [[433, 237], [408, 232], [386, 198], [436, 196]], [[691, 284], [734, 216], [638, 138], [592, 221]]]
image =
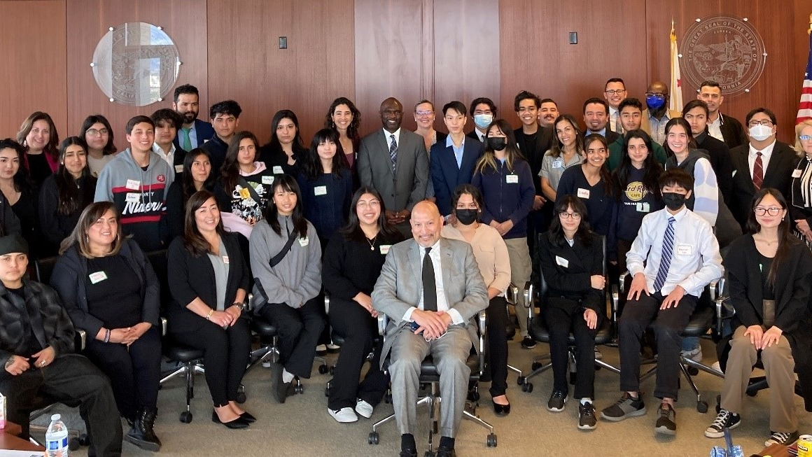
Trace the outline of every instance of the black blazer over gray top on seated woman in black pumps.
[[[222, 244], [228, 256], [228, 281], [226, 283], [226, 305], [231, 306], [237, 295], [237, 289], [248, 292], [248, 267], [245, 265], [237, 235], [222, 234]], [[222, 254], [222, 253], [221, 253]], [[217, 284], [214, 281], [214, 268], [209, 256], [192, 256], [184, 247], [183, 237], [175, 238], [166, 252], [169, 275], [169, 291], [172, 300], [166, 308], [166, 319], [171, 332], [195, 331], [208, 323], [186, 308], [197, 297], [211, 308], [217, 309]], [[226, 308], [228, 308], [226, 306]]]

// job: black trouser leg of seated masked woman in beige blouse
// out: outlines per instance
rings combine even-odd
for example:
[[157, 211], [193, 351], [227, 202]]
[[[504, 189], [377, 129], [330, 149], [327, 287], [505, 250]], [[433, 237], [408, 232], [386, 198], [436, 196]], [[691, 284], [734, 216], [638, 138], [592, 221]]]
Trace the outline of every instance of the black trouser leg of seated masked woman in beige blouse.
[[490, 396], [498, 397], [508, 390], [508, 301], [495, 296], [490, 299], [485, 313], [488, 319], [486, 369], [490, 371]]

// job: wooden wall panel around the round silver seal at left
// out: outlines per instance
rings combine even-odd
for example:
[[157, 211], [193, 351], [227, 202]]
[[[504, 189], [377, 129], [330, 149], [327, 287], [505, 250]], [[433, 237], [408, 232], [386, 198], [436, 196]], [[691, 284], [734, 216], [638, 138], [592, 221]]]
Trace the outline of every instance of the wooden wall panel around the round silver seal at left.
[[171, 108], [172, 96], [148, 106], [111, 103], [93, 78], [90, 63], [98, 41], [108, 28], [126, 22], [147, 22], [163, 28], [178, 48], [178, 84], [193, 84], [201, 92], [201, 117], [207, 111], [205, 0], [67, 0], [67, 121], [71, 135], [79, 132], [89, 114], [110, 121], [119, 150], [127, 147], [124, 126], [137, 114], [149, 116]]

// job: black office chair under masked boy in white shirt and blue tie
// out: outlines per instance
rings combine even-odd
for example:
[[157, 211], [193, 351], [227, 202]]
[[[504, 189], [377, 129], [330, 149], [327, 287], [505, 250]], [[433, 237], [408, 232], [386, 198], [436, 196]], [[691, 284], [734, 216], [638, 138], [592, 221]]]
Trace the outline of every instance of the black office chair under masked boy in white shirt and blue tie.
[[[631, 285], [631, 274], [628, 271], [625, 271], [620, 276], [620, 290], [613, 291], [612, 293], [612, 301], [613, 305], [612, 308], [616, 310], [618, 304], [617, 300], [619, 300], [621, 295], [624, 295], [628, 290], [628, 286]], [[716, 278], [711, 281], [705, 287], [705, 291], [702, 293], [702, 296], [699, 297], [697, 302], [697, 307], [693, 310], [693, 314], [688, 321], [688, 325], [685, 326], [685, 330], [682, 331], [680, 334], [683, 338], [689, 337], [697, 337], [697, 338], [706, 338], [708, 337], [708, 331], [713, 330], [713, 334], [711, 334], [711, 338], [715, 338], [714, 335], [721, 334], [722, 328], [722, 314], [723, 314], [723, 297], [722, 291], [724, 289], [724, 278]], [[617, 317], [615, 317], [617, 318]], [[615, 321], [616, 325], [616, 321]], [[651, 328], [651, 327], [649, 327]], [[653, 359], [650, 360], [643, 360], [641, 364], [654, 364], [654, 366], [649, 369], [646, 373], [643, 373], [640, 377], [640, 382], [645, 381], [651, 376], [654, 376], [654, 373], [657, 371], [657, 356], [654, 356]], [[702, 394], [699, 393], [699, 389], [695, 382], [693, 382], [693, 376], [697, 375], [699, 371], [703, 371], [705, 373], [712, 374], [716, 377], [724, 377], [724, 373], [719, 371], [718, 369], [714, 369], [711, 366], [706, 364], [702, 364], [701, 362], [697, 362], [691, 359], [687, 359], [684, 356], [680, 356], [680, 370], [682, 374], [685, 376], [685, 380], [688, 381], [688, 385], [693, 390], [693, 394], [697, 397], [697, 411], [705, 413], [708, 410], [708, 403], [702, 399]], [[693, 373], [692, 373], [693, 372]]]

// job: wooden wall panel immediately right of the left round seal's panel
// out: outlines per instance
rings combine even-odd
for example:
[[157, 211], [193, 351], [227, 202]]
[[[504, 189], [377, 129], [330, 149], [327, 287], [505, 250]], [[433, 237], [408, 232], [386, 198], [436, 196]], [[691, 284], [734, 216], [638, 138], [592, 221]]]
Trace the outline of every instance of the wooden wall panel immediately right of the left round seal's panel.
[[293, 110], [309, 145], [330, 103], [355, 97], [352, 13], [352, 0], [209, 0], [209, 101], [238, 101], [240, 130], [261, 143]]

